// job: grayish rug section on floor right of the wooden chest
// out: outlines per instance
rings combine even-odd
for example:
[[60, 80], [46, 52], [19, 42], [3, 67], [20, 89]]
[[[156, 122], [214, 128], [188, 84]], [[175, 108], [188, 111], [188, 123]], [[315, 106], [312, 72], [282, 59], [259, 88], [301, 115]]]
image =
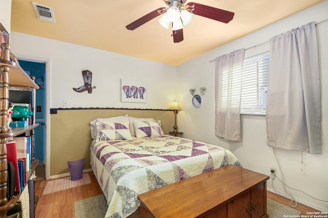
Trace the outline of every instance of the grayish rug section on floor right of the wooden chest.
[[271, 218], [299, 217], [301, 211], [267, 198], [267, 213]]

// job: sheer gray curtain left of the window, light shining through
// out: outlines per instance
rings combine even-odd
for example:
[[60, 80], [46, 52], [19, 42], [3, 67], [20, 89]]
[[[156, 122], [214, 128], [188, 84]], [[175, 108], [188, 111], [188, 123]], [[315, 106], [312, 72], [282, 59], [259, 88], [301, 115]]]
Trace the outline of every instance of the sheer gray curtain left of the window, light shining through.
[[244, 49], [215, 59], [215, 135], [240, 141], [240, 96]]

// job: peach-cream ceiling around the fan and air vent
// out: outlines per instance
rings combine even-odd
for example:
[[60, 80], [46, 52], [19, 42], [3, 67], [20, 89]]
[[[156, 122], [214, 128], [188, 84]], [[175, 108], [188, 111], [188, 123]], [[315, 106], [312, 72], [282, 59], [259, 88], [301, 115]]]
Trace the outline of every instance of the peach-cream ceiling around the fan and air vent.
[[[324, 0], [191, 0], [235, 13], [228, 24], [195, 15], [173, 42], [158, 16], [131, 31], [126, 26], [166, 7], [162, 0], [35, 0], [52, 7], [55, 23], [37, 19], [32, 2], [12, 0], [11, 31], [75, 43], [138, 58], [179, 65]], [[187, 1], [191, 2], [191, 1]]]

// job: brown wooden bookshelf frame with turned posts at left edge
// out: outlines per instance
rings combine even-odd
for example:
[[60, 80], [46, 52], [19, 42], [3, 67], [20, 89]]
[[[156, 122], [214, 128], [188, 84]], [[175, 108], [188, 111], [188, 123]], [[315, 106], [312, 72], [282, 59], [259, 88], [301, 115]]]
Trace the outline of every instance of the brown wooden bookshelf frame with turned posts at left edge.
[[[2, 26], [2, 25], [1, 25]], [[16, 57], [10, 53], [9, 43], [1, 44], [0, 56], [0, 218], [7, 217], [7, 211], [13, 208], [19, 198], [20, 193], [8, 201], [7, 193], [7, 141], [15, 136], [25, 133], [33, 135], [33, 129], [38, 124], [26, 127], [12, 128], [11, 132], [7, 128], [7, 114], [9, 103], [9, 86], [21, 86], [38, 89], [38, 85], [31, 79], [22, 68], [20, 68]], [[32, 162], [31, 169], [27, 172], [30, 178], [38, 161]]]

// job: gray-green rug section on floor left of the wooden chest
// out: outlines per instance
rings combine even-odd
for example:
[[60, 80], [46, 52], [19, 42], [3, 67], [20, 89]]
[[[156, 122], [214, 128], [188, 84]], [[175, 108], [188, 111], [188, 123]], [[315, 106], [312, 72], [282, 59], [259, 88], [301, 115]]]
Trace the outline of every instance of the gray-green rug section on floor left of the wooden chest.
[[104, 218], [107, 208], [104, 194], [74, 202], [75, 218]]

